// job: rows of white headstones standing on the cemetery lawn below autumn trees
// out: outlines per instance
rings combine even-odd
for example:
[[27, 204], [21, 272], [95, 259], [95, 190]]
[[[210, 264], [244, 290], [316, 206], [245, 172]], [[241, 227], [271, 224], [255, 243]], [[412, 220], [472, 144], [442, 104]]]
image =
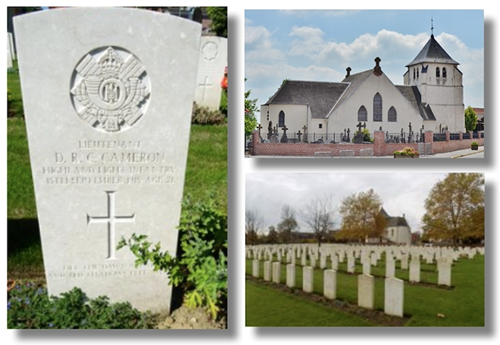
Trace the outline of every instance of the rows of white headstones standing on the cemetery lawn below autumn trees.
[[[296, 258], [300, 258], [302, 266], [302, 290], [313, 292], [314, 269], [317, 258], [320, 258], [319, 268], [323, 271], [323, 294], [328, 299], [337, 297], [337, 270], [338, 264], [347, 260], [347, 272], [355, 272], [356, 258], [359, 258], [363, 273], [358, 275], [358, 306], [374, 309], [375, 304], [375, 277], [372, 276], [371, 266], [377, 266], [382, 253], [386, 255], [385, 288], [384, 288], [384, 313], [403, 317], [404, 315], [404, 280], [395, 277], [396, 260], [401, 263], [401, 269], [410, 270], [409, 281], [420, 282], [420, 257], [427, 264], [437, 262], [438, 285], [451, 286], [451, 267], [453, 261], [460, 256], [473, 259], [479, 253], [484, 255], [484, 248], [426, 248], [402, 246], [350, 246], [350, 245], [265, 245], [248, 246], [246, 255], [253, 260], [252, 275], [260, 276], [260, 261], [264, 262], [264, 280], [280, 284], [282, 259], [289, 263], [286, 265], [286, 285], [295, 287]], [[274, 257], [276, 260], [273, 262]], [[327, 268], [327, 259], [330, 257], [331, 269]], [[411, 257], [408, 264], [409, 257]], [[307, 259], [309, 258], [309, 265]]]

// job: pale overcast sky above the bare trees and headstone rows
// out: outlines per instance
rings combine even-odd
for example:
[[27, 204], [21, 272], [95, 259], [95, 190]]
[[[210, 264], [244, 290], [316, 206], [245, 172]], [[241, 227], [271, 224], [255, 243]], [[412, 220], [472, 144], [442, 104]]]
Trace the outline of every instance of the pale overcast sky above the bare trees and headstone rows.
[[[336, 208], [337, 228], [342, 199], [373, 188], [387, 213], [394, 217], [404, 214], [414, 232], [421, 227], [429, 191], [445, 176], [446, 173], [247, 173], [245, 209], [262, 218], [267, 232], [270, 225], [276, 226], [281, 221], [284, 205], [291, 206], [298, 214], [315, 198], [330, 196]], [[302, 223], [300, 231], [310, 230]]]

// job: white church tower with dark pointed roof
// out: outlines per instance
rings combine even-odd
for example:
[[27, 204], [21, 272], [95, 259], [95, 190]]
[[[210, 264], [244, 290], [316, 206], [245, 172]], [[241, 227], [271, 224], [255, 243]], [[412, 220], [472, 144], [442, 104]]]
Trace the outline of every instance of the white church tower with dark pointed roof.
[[464, 91], [459, 63], [431, 38], [406, 67], [404, 84], [416, 86], [421, 102], [428, 105], [436, 117], [435, 132], [448, 129], [452, 133], [465, 131]]

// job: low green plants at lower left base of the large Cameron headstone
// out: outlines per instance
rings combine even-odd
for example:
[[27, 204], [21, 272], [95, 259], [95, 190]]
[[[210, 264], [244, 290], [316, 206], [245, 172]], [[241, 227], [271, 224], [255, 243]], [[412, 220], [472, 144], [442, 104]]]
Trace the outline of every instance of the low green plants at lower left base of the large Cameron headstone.
[[33, 283], [16, 284], [8, 293], [7, 327], [12, 329], [145, 329], [152, 314], [130, 303], [111, 304], [108, 297], [89, 299], [79, 288], [49, 298]]

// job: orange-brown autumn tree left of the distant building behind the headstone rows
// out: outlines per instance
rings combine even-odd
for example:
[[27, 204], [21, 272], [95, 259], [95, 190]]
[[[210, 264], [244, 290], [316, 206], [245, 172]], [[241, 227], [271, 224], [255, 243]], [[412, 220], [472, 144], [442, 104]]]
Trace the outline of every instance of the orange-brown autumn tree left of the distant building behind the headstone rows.
[[339, 239], [364, 241], [366, 238], [380, 238], [385, 230], [385, 221], [380, 214], [380, 197], [370, 189], [367, 192], [353, 193], [342, 200], [342, 217]]

